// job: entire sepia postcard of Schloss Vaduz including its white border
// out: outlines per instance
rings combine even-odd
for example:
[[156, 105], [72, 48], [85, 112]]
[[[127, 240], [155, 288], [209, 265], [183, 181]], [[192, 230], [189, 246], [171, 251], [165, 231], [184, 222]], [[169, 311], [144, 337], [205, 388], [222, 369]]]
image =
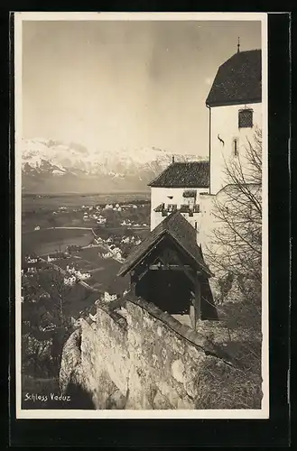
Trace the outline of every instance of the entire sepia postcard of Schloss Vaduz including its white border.
[[267, 14], [14, 13], [17, 419], [268, 419]]

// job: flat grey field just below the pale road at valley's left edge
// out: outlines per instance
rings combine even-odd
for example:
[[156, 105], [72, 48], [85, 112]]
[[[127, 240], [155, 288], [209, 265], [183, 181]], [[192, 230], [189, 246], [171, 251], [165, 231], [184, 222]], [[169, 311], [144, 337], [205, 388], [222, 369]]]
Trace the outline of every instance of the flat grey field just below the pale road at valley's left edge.
[[67, 245], [87, 246], [94, 236], [91, 230], [78, 229], [41, 229], [22, 235], [22, 253], [55, 253], [65, 251]]

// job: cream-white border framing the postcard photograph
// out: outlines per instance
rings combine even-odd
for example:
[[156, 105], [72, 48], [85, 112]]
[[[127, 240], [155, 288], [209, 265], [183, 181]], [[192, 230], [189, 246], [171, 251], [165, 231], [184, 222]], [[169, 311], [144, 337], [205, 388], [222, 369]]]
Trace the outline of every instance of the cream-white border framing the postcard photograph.
[[[262, 253], [262, 376], [260, 410], [22, 410], [21, 240], [22, 240], [22, 23], [23, 21], [259, 21], [262, 23], [263, 96], [263, 253]], [[42, 13], [14, 12], [15, 120], [15, 381], [16, 419], [268, 419], [268, 78], [266, 13]]]

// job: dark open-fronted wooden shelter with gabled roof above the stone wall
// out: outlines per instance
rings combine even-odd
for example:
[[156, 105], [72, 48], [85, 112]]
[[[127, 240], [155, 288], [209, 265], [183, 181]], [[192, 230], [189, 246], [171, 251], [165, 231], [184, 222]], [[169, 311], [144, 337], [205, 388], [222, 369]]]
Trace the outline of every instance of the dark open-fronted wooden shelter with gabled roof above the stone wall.
[[180, 320], [218, 319], [196, 231], [179, 211], [156, 226], [125, 260], [118, 276], [130, 273], [131, 292]]

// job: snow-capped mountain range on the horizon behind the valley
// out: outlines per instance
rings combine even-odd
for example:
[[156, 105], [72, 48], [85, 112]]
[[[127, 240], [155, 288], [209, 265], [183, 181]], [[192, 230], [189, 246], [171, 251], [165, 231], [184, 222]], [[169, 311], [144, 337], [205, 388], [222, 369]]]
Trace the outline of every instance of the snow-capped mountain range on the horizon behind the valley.
[[[144, 191], [147, 183], [172, 162], [172, 153], [155, 147], [93, 151], [78, 143], [23, 139], [24, 192]], [[174, 154], [175, 161], [201, 160]]]

